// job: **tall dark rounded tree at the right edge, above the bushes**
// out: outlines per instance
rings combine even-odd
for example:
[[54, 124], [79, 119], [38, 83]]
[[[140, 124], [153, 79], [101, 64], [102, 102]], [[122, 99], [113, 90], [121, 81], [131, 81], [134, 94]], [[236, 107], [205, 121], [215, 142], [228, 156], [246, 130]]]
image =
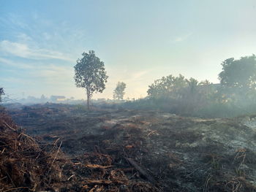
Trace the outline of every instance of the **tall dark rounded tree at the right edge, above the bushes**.
[[238, 60], [228, 58], [222, 62], [222, 72], [219, 73], [222, 88], [219, 95], [226, 102], [246, 108], [256, 101], [256, 57], [255, 55], [241, 57]]

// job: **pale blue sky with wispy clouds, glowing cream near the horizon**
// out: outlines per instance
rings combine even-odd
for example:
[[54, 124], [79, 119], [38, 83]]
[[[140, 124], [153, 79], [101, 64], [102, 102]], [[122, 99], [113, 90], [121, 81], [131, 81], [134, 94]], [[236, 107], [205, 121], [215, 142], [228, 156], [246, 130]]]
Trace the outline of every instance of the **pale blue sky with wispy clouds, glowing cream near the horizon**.
[[94, 50], [125, 98], [142, 98], [163, 76], [217, 83], [227, 58], [256, 53], [255, 0], [0, 0], [0, 86], [12, 99], [63, 95], [75, 87], [74, 66]]

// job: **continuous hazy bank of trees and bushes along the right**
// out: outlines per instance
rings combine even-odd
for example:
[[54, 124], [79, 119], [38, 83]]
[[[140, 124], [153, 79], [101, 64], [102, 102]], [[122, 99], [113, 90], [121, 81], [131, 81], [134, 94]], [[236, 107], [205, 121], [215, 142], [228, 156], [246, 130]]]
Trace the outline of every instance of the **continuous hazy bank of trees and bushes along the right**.
[[148, 86], [146, 99], [126, 107], [164, 110], [180, 115], [231, 117], [256, 112], [256, 57], [228, 58], [222, 62], [219, 84], [183, 75], [168, 75]]

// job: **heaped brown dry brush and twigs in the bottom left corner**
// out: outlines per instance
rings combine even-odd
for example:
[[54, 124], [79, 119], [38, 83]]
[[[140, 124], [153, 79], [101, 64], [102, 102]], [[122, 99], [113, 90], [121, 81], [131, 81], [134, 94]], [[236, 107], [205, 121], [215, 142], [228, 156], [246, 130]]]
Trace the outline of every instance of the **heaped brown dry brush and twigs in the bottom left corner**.
[[0, 191], [39, 191], [59, 181], [56, 147], [46, 152], [1, 112]]

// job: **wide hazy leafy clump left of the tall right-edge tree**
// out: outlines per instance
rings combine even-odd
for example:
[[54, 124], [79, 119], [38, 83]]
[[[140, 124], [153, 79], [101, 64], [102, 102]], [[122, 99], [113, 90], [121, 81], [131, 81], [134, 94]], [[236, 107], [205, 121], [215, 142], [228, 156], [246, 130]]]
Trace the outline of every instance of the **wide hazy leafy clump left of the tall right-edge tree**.
[[149, 86], [148, 98], [162, 110], [189, 115], [207, 104], [214, 91], [216, 89], [208, 80], [199, 83], [194, 78], [187, 80], [181, 74], [178, 77], [169, 75]]

